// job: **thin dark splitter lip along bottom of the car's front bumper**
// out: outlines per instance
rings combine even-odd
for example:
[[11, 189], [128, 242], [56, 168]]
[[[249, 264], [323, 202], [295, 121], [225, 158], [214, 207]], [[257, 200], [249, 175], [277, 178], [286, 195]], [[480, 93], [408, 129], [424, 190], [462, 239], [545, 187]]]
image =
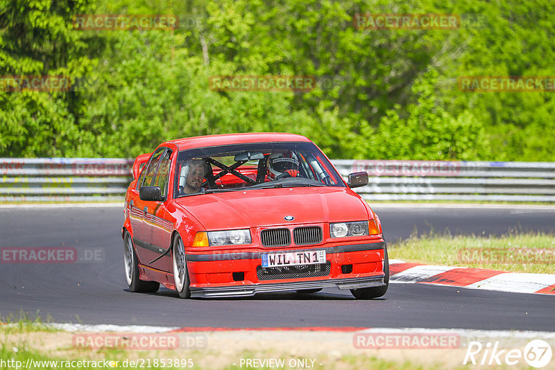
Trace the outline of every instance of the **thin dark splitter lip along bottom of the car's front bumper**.
[[227, 287], [214, 288], [193, 288], [191, 287], [191, 297], [193, 298], [214, 298], [214, 297], [252, 297], [256, 293], [263, 292], [284, 292], [287, 290], [317, 289], [317, 288], [339, 288], [339, 289], [359, 289], [372, 288], [386, 285], [384, 274], [377, 276], [366, 276], [352, 279], [326, 279], [319, 281], [294, 281], [287, 283], [253, 284], [253, 285], [234, 285]]

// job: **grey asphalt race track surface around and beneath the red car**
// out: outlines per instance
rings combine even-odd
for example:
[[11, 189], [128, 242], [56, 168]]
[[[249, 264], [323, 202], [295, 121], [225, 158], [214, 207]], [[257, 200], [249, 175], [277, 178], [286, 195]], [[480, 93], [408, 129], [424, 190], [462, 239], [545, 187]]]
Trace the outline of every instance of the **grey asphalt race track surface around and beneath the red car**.
[[[456, 234], [510, 229], [555, 233], [555, 207], [375, 206], [388, 240], [416, 228]], [[261, 294], [245, 299], [178, 299], [127, 291], [122, 206], [0, 208], [0, 248], [100, 250], [88, 263], [0, 263], [0, 316], [24, 312], [43, 321], [83, 324], [230, 328], [352, 326], [555, 331], [555, 297], [434, 285], [390, 285], [383, 299], [358, 301], [334, 289], [316, 294]], [[98, 256], [96, 256], [98, 257]], [[395, 258], [395, 256], [390, 256]]]

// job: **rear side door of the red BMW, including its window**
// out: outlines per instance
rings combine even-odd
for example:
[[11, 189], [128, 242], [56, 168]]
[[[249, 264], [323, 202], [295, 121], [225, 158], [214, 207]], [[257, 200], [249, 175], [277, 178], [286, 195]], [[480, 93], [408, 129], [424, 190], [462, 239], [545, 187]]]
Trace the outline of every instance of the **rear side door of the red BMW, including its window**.
[[133, 205], [131, 205], [131, 213], [135, 215], [131, 218], [131, 227], [133, 227], [133, 243], [135, 244], [137, 257], [139, 262], [148, 265], [150, 261], [153, 261], [153, 247], [148, 243], [148, 238], [150, 237], [150, 229], [148, 228], [148, 222], [151, 222], [151, 218], [147, 216], [148, 207], [155, 202], [147, 202], [141, 200], [138, 196], [142, 186], [151, 186], [153, 180], [155, 179], [157, 168], [160, 166], [160, 160], [166, 152], [167, 148], [158, 148], [155, 150], [151, 159], [148, 160], [146, 167], [141, 173], [139, 180], [137, 181], [137, 197], [133, 199]]

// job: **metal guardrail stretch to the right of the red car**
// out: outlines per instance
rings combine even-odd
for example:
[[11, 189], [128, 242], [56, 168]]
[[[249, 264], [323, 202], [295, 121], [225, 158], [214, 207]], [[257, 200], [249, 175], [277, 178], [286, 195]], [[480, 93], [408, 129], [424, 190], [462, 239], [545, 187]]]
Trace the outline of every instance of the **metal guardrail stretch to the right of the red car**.
[[366, 171], [365, 200], [555, 202], [555, 163], [336, 160], [341, 175]]

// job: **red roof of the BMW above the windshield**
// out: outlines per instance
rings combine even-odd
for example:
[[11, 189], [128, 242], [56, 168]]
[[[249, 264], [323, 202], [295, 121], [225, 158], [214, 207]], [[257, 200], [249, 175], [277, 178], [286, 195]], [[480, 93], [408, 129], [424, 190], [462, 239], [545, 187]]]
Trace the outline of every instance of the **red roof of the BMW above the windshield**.
[[305, 136], [297, 134], [285, 134], [283, 132], [250, 132], [245, 134], [220, 134], [207, 136], [185, 137], [167, 141], [178, 146], [178, 150], [203, 148], [205, 146], [223, 146], [230, 144], [244, 143], [268, 143], [268, 142], [287, 142], [303, 141], [311, 142]]

